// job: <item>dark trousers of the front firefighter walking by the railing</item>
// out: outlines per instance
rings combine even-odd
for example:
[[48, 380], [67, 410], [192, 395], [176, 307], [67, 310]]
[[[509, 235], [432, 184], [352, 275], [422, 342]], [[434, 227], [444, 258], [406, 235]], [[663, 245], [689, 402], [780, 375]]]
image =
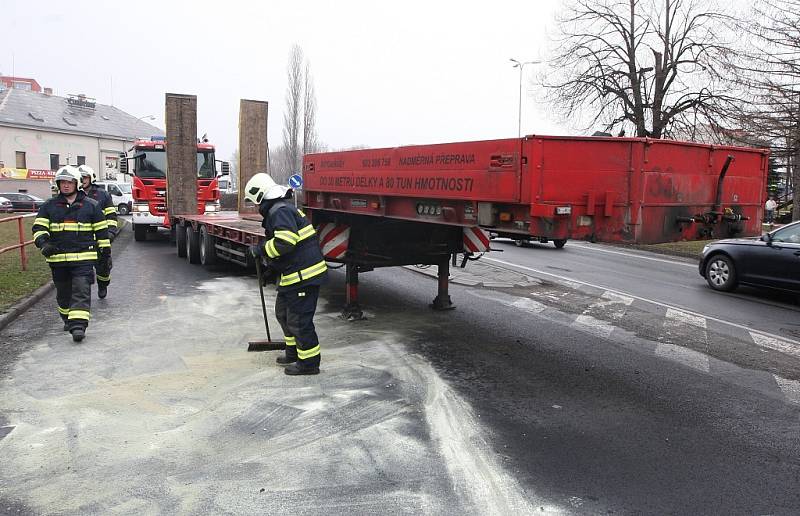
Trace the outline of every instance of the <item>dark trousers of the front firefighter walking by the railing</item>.
[[74, 328], [86, 329], [91, 317], [94, 267], [53, 267], [51, 272], [56, 285], [56, 301], [61, 319], [67, 323], [70, 331]]

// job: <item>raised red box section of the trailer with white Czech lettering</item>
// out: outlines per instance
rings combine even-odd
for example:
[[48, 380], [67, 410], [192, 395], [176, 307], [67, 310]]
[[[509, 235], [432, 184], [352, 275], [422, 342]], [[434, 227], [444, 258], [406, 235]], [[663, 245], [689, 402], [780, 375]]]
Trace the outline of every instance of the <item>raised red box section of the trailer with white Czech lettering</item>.
[[768, 152], [642, 138], [527, 136], [312, 154], [323, 218], [479, 225], [517, 240], [658, 243], [757, 235]]

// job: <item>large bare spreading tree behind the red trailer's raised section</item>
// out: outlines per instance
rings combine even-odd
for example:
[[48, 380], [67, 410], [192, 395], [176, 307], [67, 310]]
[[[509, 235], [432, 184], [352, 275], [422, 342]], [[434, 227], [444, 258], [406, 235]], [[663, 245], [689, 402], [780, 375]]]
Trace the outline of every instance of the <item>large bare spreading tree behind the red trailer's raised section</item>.
[[[541, 75], [566, 119], [670, 137], [713, 121], [725, 93], [720, 41], [729, 17], [700, 0], [573, 0], [558, 18], [558, 48]], [[701, 7], [702, 6], [702, 7]]]

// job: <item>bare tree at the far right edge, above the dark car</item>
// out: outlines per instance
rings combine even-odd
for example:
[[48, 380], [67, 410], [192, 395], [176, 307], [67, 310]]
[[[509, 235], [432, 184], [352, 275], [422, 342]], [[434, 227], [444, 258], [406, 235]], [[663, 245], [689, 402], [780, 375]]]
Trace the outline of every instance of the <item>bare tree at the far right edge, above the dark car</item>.
[[[792, 199], [800, 195], [800, 0], [760, 0], [741, 24], [749, 36], [734, 65], [737, 84], [749, 93], [739, 121], [770, 142], [787, 170]], [[800, 219], [793, 203], [792, 220]]]

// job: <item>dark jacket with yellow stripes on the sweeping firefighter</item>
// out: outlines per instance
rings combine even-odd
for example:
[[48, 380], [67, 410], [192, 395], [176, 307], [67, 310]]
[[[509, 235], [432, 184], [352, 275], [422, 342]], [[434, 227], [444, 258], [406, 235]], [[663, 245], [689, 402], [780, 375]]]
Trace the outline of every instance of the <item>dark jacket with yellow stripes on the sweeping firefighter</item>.
[[263, 254], [276, 270], [278, 290], [294, 290], [321, 285], [328, 270], [319, 249], [317, 232], [303, 212], [280, 200], [262, 202], [259, 206], [267, 241]]

